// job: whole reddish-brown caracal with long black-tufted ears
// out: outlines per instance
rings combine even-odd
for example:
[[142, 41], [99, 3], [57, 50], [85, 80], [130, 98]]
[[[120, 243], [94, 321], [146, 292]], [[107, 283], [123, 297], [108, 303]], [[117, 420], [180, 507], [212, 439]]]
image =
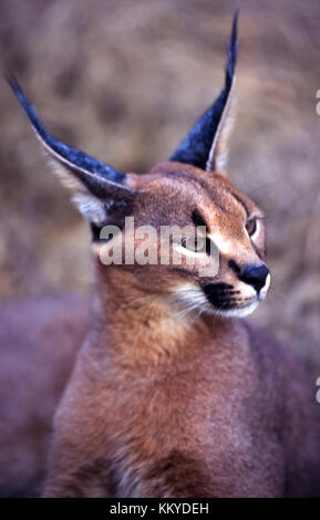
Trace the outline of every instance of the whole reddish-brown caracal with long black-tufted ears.
[[[7, 493], [17, 479], [25, 489], [43, 477], [52, 413], [76, 357], [55, 413], [43, 497], [319, 495], [312, 377], [290, 345], [230, 318], [251, 312], [269, 285], [262, 214], [217, 170], [227, 150], [237, 45], [236, 14], [224, 90], [172, 160], [144, 176], [120, 174], [56, 142], [9, 80], [91, 223], [94, 291], [90, 323], [85, 303], [66, 311], [58, 303], [50, 316], [39, 306], [25, 315], [19, 308], [4, 312], [0, 440], [8, 448], [0, 483]], [[104, 266], [109, 246], [99, 233], [118, 226], [110, 243], [123, 248], [127, 216], [135, 228], [157, 232], [205, 221], [205, 245], [219, 250], [218, 272], [207, 249], [190, 253], [193, 266], [186, 247], [182, 264], [171, 254], [159, 263], [156, 240], [157, 264]], [[134, 239], [141, 247], [142, 238]], [[262, 274], [258, 285], [244, 277], [248, 268]]]

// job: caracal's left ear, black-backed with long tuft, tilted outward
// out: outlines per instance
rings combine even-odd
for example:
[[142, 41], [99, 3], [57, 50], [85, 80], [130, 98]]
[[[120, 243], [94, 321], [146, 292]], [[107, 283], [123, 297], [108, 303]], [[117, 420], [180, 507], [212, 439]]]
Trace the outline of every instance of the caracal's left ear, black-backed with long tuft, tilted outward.
[[8, 77], [8, 82], [48, 152], [54, 171], [71, 189], [73, 201], [84, 218], [95, 228], [111, 221], [121, 226], [121, 220], [132, 212], [136, 195], [130, 186], [130, 177], [52, 137], [14, 77]]

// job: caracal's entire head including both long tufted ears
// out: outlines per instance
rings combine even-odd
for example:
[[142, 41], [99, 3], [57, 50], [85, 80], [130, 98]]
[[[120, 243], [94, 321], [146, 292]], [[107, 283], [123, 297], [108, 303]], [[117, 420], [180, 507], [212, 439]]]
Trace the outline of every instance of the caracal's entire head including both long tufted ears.
[[[246, 315], [266, 297], [264, 215], [224, 171], [233, 123], [237, 14], [224, 89], [171, 159], [122, 174], [53, 138], [17, 81], [33, 129], [92, 229], [93, 251], [118, 292], [138, 289], [182, 312]], [[128, 287], [131, 285], [131, 287]]]

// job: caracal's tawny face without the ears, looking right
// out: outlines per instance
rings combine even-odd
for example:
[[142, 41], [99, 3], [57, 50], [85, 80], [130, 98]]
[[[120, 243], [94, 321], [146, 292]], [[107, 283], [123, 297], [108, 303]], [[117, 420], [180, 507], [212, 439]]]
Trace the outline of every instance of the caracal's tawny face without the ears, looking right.
[[[254, 201], [226, 173], [207, 175], [178, 163], [131, 175], [131, 183], [141, 194], [134, 201], [134, 230], [131, 235], [123, 227], [105, 245], [107, 251], [123, 248], [118, 269], [130, 270], [145, 294], [182, 310], [225, 316], [252, 312], [270, 284], [264, 214]], [[103, 247], [94, 243], [102, 261]], [[136, 252], [134, 264], [125, 264], [124, 248]]]

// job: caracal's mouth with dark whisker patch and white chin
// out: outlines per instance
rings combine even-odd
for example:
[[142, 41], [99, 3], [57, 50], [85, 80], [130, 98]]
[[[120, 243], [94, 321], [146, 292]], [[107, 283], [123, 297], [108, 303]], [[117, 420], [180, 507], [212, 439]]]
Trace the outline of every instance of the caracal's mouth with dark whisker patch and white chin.
[[203, 290], [216, 313], [224, 316], [240, 318], [251, 314], [264, 299], [262, 294], [244, 298], [240, 291], [227, 283], [209, 283]]

